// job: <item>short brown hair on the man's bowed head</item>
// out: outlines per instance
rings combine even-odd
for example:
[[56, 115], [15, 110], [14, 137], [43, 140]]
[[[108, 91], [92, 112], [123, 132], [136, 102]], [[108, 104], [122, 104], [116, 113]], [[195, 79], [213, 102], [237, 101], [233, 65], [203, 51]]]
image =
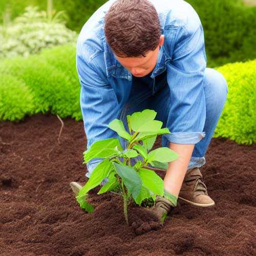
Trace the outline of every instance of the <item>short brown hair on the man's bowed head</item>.
[[147, 0], [118, 0], [105, 15], [106, 41], [118, 57], [145, 57], [159, 44], [161, 26]]

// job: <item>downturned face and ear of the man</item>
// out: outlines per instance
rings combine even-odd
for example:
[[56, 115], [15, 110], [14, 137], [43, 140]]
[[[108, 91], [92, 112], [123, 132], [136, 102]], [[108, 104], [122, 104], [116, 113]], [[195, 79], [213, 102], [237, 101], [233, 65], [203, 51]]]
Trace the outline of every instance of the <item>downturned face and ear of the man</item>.
[[115, 55], [121, 65], [136, 77], [150, 74], [156, 67], [160, 46], [163, 45], [164, 35], [160, 36], [160, 42], [154, 51], [148, 51], [145, 57], [122, 58]]

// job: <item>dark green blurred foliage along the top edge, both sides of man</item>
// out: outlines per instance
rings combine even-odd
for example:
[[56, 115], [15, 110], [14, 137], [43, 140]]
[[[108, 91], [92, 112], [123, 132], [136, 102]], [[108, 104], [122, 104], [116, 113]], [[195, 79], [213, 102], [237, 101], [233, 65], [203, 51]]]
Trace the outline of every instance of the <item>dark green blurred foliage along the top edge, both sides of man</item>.
[[[54, 9], [65, 10], [67, 27], [79, 32], [92, 13], [106, 1], [55, 0]], [[245, 6], [242, 0], [187, 0], [198, 12], [205, 33], [208, 67], [256, 58], [256, 7]], [[46, 10], [46, 1], [1, 0], [2, 14], [9, 9], [11, 18], [24, 12], [28, 5]], [[3, 17], [2, 17], [3, 21]]]

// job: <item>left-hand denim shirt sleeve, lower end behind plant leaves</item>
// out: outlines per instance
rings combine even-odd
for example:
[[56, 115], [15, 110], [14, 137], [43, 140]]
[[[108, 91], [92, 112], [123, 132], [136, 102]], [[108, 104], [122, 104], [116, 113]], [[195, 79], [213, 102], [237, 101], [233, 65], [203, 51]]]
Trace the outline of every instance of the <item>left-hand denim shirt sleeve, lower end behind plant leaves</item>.
[[[118, 117], [119, 108], [116, 94], [103, 72], [104, 59], [100, 55], [93, 60], [86, 60], [76, 55], [76, 66], [80, 90], [80, 106], [87, 136], [87, 148], [102, 139], [114, 138], [117, 135], [109, 129], [108, 124]], [[102, 67], [101, 67], [102, 66]], [[88, 164], [90, 174], [102, 159], [93, 159]]]

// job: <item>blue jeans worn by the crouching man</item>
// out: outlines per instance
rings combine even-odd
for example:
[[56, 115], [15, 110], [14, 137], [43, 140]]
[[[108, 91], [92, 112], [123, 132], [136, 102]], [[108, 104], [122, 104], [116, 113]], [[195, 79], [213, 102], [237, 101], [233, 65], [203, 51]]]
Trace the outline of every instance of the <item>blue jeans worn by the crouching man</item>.
[[[145, 91], [142, 90], [137, 94], [135, 92], [134, 95], [131, 96], [124, 106], [120, 116], [126, 129], [126, 115], [131, 115], [134, 112], [142, 111], [144, 109], [155, 110], [157, 112], [156, 120], [162, 121], [162, 127], [166, 127], [168, 110], [170, 108], [169, 87], [165, 84], [156, 88], [159, 88], [159, 90], [153, 92], [153, 95], [152, 91], [147, 89]], [[187, 169], [201, 167], [205, 164], [205, 153], [227, 98], [227, 83], [223, 75], [214, 69], [206, 68], [204, 91], [206, 100], [206, 120], [203, 132], [205, 132], [205, 137], [195, 144]], [[124, 140], [120, 137], [119, 140], [122, 146], [125, 146]], [[162, 136], [162, 146], [168, 147], [168, 144], [169, 141]]]

